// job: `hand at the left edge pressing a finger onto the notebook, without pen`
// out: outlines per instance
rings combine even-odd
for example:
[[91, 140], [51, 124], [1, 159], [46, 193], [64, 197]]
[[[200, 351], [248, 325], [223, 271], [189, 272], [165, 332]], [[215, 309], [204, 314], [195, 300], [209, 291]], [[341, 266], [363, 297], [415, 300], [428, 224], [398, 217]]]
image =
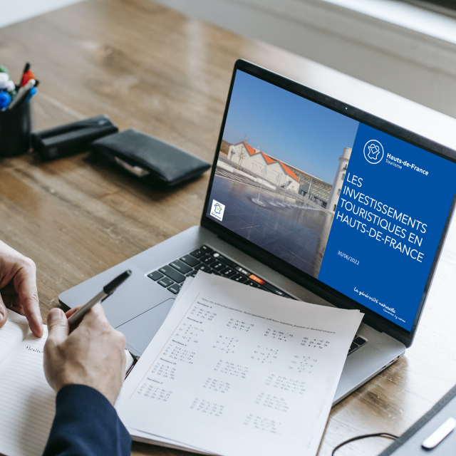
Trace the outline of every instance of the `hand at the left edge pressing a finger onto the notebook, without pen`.
[[0, 241], [0, 328], [6, 323], [5, 306], [25, 315], [33, 334], [43, 336], [35, 263]]

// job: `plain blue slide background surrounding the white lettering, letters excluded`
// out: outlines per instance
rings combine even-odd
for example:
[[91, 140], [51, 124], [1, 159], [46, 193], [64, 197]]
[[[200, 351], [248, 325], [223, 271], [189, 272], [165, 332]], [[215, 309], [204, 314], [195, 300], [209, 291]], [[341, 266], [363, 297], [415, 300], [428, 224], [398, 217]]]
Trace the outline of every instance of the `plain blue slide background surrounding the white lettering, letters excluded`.
[[[384, 157], [377, 165], [369, 163], [363, 155], [364, 145], [369, 140], [378, 140], [383, 145]], [[427, 170], [429, 175], [423, 175], [408, 167], [403, 166], [399, 169], [389, 165], [386, 162], [388, 153], [414, 163]], [[378, 242], [369, 237], [367, 232], [362, 234], [356, 227], [349, 227], [335, 216], [318, 279], [410, 331], [455, 195], [456, 164], [360, 124], [348, 164], [347, 176], [348, 173], [351, 176], [362, 177], [363, 185], [355, 187], [353, 184], [348, 184], [346, 177], [341, 198], [407, 229], [407, 236], [405, 239], [398, 239], [397, 236], [374, 225], [373, 222], [347, 212], [345, 207], [340, 209], [341, 199], [339, 199], [336, 214], [340, 210], [344, 215], [348, 214], [349, 218], [366, 223], [368, 230], [370, 227], [375, 227], [383, 232], [383, 238], [388, 234], [400, 242], [405, 241], [408, 247], [413, 245], [407, 241], [410, 232], [423, 237], [421, 247], [415, 244], [415, 248], [424, 254], [423, 262], [411, 259], [400, 250], [389, 247], [389, 244]], [[417, 232], [410, 225], [396, 222], [395, 219], [380, 214], [373, 210], [373, 207], [360, 204], [349, 196], [344, 197], [343, 190], [347, 185], [393, 207], [398, 212], [408, 214], [412, 219], [418, 219], [427, 224], [426, 233]], [[339, 256], [338, 251], [357, 259], [359, 265]], [[354, 291], [355, 287], [358, 292]], [[360, 296], [361, 291], [375, 297], [379, 303], [395, 309], [395, 314], [388, 313], [371, 299]], [[399, 318], [402, 318], [405, 323]]]

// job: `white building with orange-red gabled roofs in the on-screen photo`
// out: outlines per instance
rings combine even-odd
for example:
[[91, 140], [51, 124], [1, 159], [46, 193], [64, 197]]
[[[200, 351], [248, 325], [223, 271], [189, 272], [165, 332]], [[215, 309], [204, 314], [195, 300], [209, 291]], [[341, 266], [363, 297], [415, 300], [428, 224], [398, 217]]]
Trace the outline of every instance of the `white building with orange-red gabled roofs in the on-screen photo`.
[[241, 141], [229, 146], [228, 160], [233, 162], [234, 167], [242, 167], [244, 170], [264, 177], [271, 184], [284, 187], [291, 192], [299, 191], [299, 179], [280, 160], [269, 157], [259, 149], [254, 149], [247, 142]]

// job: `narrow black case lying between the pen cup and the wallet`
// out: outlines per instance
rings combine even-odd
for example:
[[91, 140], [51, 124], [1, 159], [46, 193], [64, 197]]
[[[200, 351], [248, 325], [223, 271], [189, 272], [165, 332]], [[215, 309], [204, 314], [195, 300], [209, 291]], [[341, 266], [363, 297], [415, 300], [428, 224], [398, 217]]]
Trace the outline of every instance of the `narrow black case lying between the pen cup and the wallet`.
[[90, 119], [33, 133], [33, 150], [38, 152], [41, 160], [66, 157], [88, 150], [90, 142], [117, 133], [118, 130], [107, 115], [97, 115]]

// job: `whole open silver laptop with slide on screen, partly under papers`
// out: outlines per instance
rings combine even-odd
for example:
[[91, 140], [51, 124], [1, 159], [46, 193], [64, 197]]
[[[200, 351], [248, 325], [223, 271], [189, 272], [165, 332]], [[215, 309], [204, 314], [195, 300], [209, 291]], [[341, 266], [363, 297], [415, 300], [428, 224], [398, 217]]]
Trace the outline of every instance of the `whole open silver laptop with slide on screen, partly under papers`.
[[359, 309], [336, 403], [413, 343], [455, 207], [455, 175], [455, 151], [239, 60], [201, 224], [59, 300], [81, 305], [131, 269], [103, 307], [136, 356], [197, 271]]

